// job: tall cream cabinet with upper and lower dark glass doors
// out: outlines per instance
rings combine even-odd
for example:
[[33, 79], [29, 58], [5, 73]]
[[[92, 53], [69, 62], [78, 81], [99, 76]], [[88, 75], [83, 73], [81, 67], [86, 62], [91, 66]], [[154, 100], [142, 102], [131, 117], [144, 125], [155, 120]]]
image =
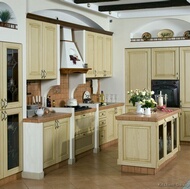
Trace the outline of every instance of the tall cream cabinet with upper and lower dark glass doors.
[[0, 179], [22, 170], [22, 45], [0, 42]]

